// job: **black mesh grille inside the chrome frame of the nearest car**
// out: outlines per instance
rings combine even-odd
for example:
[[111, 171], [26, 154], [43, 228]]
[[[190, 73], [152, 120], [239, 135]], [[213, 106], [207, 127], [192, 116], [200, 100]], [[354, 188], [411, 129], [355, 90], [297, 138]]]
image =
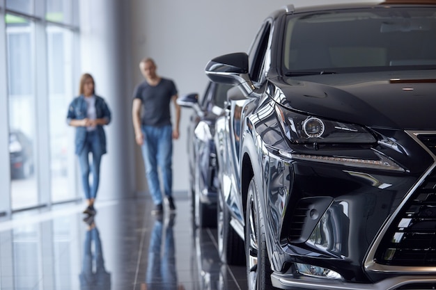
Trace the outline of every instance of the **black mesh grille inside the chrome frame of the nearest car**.
[[[436, 155], [436, 134], [419, 140]], [[375, 252], [378, 264], [436, 266], [436, 169], [398, 213]]]

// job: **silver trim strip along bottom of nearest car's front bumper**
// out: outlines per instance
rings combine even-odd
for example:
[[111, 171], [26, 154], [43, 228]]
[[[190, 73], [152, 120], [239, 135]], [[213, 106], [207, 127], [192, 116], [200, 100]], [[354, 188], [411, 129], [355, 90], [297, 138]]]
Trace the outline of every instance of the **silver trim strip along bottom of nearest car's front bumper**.
[[396, 276], [384, 279], [374, 284], [361, 284], [342, 282], [338, 280], [328, 280], [322, 278], [307, 278], [280, 275], [271, 275], [272, 286], [280, 289], [317, 289], [317, 290], [394, 290], [407, 284], [435, 283], [436, 276], [416, 277], [416, 276]]

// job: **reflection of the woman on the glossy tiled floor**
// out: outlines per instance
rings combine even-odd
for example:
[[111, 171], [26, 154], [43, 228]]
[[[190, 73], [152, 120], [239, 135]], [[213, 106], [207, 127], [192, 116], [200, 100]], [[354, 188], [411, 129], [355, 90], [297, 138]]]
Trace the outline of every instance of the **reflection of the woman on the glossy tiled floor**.
[[[87, 220], [89, 227], [84, 243], [84, 257], [79, 275], [81, 290], [110, 290], [111, 274], [104, 269], [104, 259], [100, 234], [94, 220]], [[92, 251], [92, 243], [94, 247]]]

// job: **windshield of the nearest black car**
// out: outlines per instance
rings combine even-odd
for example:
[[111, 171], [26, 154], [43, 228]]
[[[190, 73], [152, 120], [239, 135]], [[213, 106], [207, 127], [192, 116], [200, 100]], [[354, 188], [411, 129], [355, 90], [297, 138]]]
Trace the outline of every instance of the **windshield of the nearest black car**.
[[436, 68], [436, 7], [289, 15], [283, 66], [287, 74]]

